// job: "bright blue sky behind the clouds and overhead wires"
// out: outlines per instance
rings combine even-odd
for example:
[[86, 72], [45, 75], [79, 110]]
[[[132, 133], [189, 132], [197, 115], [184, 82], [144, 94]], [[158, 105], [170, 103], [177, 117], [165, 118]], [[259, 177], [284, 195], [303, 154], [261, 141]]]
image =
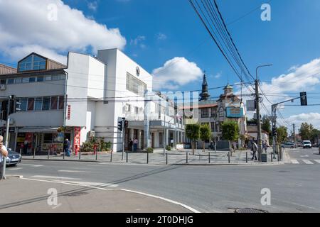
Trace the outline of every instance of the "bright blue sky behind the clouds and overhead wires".
[[[46, 1], [50, 2], [49, 0]], [[317, 89], [320, 84], [319, 74], [311, 77], [311, 82], [303, 83], [303, 78], [306, 78], [309, 74], [320, 72], [316, 68], [318, 62], [311, 65], [311, 70], [309, 69], [310, 65], [307, 65], [320, 57], [320, 1], [270, 1], [272, 20], [262, 21], [260, 19], [262, 10], [257, 8], [267, 1], [269, 0], [217, 1], [243, 60], [252, 74], [255, 74], [257, 65], [273, 64], [272, 67], [260, 71], [260, 79], [266, 83], [266, 93], [272, 93], [274, 89], [270, 84], [271, 79], [281, 75], [284, 77], [284, 81], [292, 77], [292, 89], [282, 90], [281, 83], [283, 82], [278, 82], [278, 84], [273, 84], [277, 85], [277, 91], [274, 91], [274, 93], [283, 93], [292, 97], [297, 96], [299, 92], [303, 92], [302, 89], [306, 92], [319, 92], [319, 89]], [[189, 80], [182, 78], [186, 81], [175, 82], [176, 86], [173, 88], [180, 91], [201, 88], [202, 81], [199, 79], [198, 69], [206, 70], [209, 87], [223, 86], [227, 83], [228, 78], [230, 84], [239, 82], [238, 77], [235, 76], [223, 55], [220, 54], [213, 40], [210, 39], [187, 0], [64, 0], [63, 3], [70, 6], [71, 9], [82, 11], [86, 18], [107, 26], [107, 29], [119, 29], [122, 38], [125, 38], [125, 43], [122, 42], [123, 40], [118, 40], [115, 43], [114, 41], [110, 42], [108, 40], [110, 36], [106, 36], [107, 38], [104, 40], [97, 39], [92, 43], [90, 41], [83, 42], [81, 44], [84, 47], [88, 45], [81, 48], [82, 52], [95, 54], [95, 48], [120, 46], [129, 57], [132, 57], [149, 72], [164, 67], [165, 62], [174, 60], [175, 57], [178, 57], [176, 60], [180, 61], [181, 67], [183, 67], [182, 62], [186, 64], [194, 62], [196, 67], [195, 65], [188, 65], [188, 67], [191, 66], [192, 71], [190, 77], [188, 77]], [[0, 1], [0, 4], [5, 3]], [[253, 9], [257, 10], [252, 11]], [[245, 16], [249, 12], [251, 13]], [[242, 16], [245, 17], [242, 18]], [[229, 24], [233, 21], [235, 22]], [[90, 33], [90, 31], [85, 31], [85, 33]], [[81, 36], [83, 34], [75, 33], [75, 35]], [[97, 42], [100, 44], [97, 45]], [[12, 45], [12, 48], [14, 48], [14, 44]], [[24, 44], [18, 43], [16, 45]], [[45, 44], [37, 40], [37, 37], [33, 37], [29, 40], [28, 45], [31, 45], [31, 47], [37, 45], [37, 50], [42, 50], [41, 47]], [[88, 47], [90, 45], [92, 45], [92, 48]], [[30, 50], [31, 48], [24, 49]], [[67, 49], [79, 51], [78, 47], [70, 44], [68, 47], [51, 48], [50, 53], [64, 55], [68, 51]], [[0, 62], [14, 64], [16, 58], [16, 56], [9, 56], [6, 51], [0, 52]], [[189, 69], [188, 67], [186, 69]], [[299, 69], [299, 67], [304, 68]], [[290, 71], [293, 73], [292, 75], [288, 71], [290, 68], [292, 68]], [[312, 69], [316, 70], [312, 71]], [[299, 70], [304, 73], [302, 77], [299, 77], [300, 74], [297, 73]], [[287, 77], [285, 77], [286, 75]], [[297, 77], [297, 79], [293, 77]], [[155, 78], [155, 84], [162, 84], [163, 78]], [[181, 79], [181, 77], [175, 78]], [[302, 84], [294, 89], [294, 86], [301, 81]], [[166, 81], [166, 83], [171, 82]], [[287, 86], [287, 84], [283, 85]], [[221, 92], [221, 90], [210, 91], [212, 96], [218, 96]], [[320, 103], [320, 94], [309, 96], [314, 97], [314, 99], [309, 99], [309, 104]], [[284, 99], [284, 97], [271, 96], [270, 99], [278, 101]], [[265, 106], [270, 109], [270, 105], [267, 103], [265, 103]], [[286, 107], [282, 110], [282, 114], [284, 118], [287, 118], [287, 121], [290, 121], [289, 123], [299, 123], [304, 119], [308, 120], [311, 117], [310, 113], [319, 114], [319, 109], [319, 106], [309, 106], [304, 109], [299, 106]], [[302, 114], [306, 115], [302, 116]], [[320, 127], [320, 114], [319, 116], [313, 116], [313, 118], [316, 118], [314, 124]]]

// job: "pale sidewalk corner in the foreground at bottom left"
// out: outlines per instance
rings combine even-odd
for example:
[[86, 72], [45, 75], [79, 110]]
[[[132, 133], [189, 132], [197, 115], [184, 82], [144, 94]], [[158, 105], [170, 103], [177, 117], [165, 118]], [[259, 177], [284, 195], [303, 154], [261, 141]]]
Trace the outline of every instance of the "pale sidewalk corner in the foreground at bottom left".
[[[95, 189], [15, 177], [0, 184], [0, 213], [191, 213], [181, 205], [119, 189]], [[58, 204], [55, 205], [48, 189], [58, 191]]]

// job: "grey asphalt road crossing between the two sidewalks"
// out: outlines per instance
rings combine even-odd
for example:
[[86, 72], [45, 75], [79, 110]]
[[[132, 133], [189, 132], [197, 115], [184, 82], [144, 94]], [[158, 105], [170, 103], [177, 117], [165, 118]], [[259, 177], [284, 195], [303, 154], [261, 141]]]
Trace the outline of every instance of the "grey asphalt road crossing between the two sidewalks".
[[[320, 155], [289, 150], [292, 164], [272, 166], [151, 166], [23, 161], [7, 175], [31, 179], [108, 184], [181, 202], [201, 212], [255, 208], [270, 212], [320, 212]], [[306, 156], [308, 155], [308, 157]], [[309, 160], [312, 164], [308, 164]], [[262, 206], [262, 189], [271, 205]]]

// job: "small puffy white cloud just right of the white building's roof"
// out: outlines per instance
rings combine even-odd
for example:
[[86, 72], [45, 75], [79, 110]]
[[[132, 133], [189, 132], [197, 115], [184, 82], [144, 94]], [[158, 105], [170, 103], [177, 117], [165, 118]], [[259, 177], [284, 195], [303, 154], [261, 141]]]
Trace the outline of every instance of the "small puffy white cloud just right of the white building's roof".
[[178, 89], [190, 82], [201, 79], [203, 73], [195, 62], [189, 62], [185, 57], [174, 57], [152, 72], [154, 74], [154, 89]]

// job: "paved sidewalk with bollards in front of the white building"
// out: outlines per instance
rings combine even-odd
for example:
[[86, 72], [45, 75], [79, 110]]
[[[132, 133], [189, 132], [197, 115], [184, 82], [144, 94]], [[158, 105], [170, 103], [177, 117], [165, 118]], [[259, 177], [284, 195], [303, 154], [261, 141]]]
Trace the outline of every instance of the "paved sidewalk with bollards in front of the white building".
[[[188, 153], [188, 156], [187, 156]], [[65, 156], [50, 156], [49, 160], [55, 161], [78, 161], [78, 162], [107, 162], [107, 163], [128, 163], [137, 165], [265, 165], [265, 164], [282, 164], [283, 162], [277, 162], [277, 155], [275, 159], [272, 159], [272, 150], [267, 151], [267, 162], [257, 162], [251, 160], [250, 150], [237, 150], [230, 156], [230, 162], [228, 157], [228, 151], [217, 150], [195, 150], [194, 155], [192, 150], [177, 151], [172, 150], [167, 153], [163, 153], [163, 150], [155, 150], [154, 153], [124, 153], [122, 159], [122, 153], [98, 153], [96, 155], [79, 155], [72, 157]], [[210, 160], [209, 160], [210, 155]], [[246, 158], [247, 155], [247, 158]], [[23, 156], [23, 160], [33, 160], [33, 156]], [[48, 160], [48, 156], [36, 155], [34, 160]], [[128, 161], [127, 161], [128, 160]]]

